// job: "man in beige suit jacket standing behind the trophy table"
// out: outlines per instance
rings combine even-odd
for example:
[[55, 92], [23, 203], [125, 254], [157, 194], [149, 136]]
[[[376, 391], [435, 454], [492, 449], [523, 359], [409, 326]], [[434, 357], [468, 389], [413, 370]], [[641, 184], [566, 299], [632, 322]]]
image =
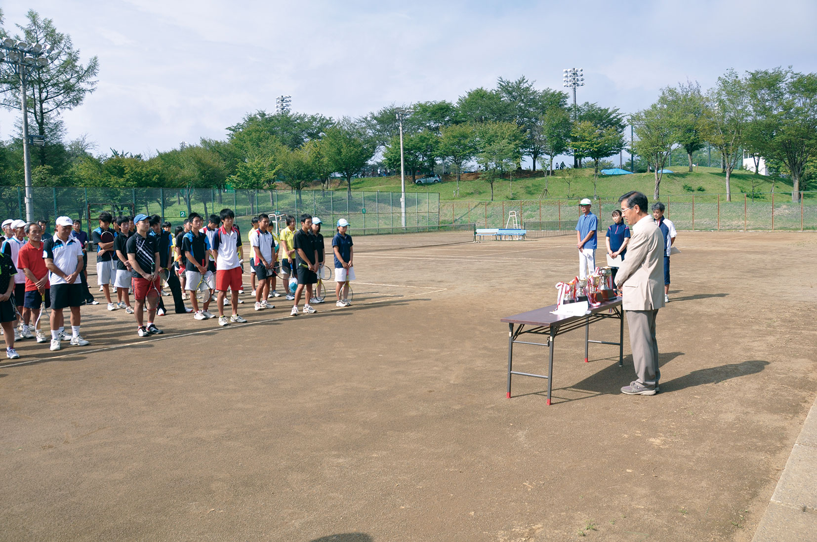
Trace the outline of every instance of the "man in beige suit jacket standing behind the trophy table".
[[618, 268], [615, 282], [622, 291], [622, 309], [627, 311], [632, 362], [638, 377], [621, 392], [655, 395], [661, 378], [655, 317], [664, 306], [664, 241], [643, 193], [628, 192], [618, 198], [618, 202], [622, 215], [630, 224], [630, 243], [627, 245], [627, 260]]

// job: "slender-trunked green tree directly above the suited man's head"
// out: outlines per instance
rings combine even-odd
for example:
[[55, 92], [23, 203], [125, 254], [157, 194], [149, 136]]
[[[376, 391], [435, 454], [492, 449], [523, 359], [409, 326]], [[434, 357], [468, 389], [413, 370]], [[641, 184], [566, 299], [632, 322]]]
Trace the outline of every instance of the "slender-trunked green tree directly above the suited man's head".
[[635, 113], [630, 118], [637, 140], [632, 142], [632, 153], [644, 157], [654, 166], [655, 187], [653, 199], [660, 195], [661, 177], [667, 163], [672, 145], [679, 139], [672, 111], [661, 100], [650, 105], [648, 109]]

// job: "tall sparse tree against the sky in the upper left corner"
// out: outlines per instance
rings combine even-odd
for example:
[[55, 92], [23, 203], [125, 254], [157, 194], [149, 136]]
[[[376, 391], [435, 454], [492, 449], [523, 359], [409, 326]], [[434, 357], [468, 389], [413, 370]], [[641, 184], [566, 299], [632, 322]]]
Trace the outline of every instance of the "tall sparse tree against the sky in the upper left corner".
[[[61, 140], [61, 134], [49, 133], [49, 128], [53, 131], [61, 127], [60, 114], [82, 104], [85, 97], [96, 90], [99, 60], [93, 56], [87, 65], [83, 65], [71, 37], [58, 32], [51, 19], [42, 19], [33, 10], [29, 10], [26, 17], [29, 23], [16, 25], [21, 33], [16, 34], [15, 38], [55, 47], [47, 67], [35, 70], [29, 79], [29, 103], [26, 104], [32, 113], [36, 133], [46, 136], [46, 140], [51, 140], [53, 144]], [[20, 109], [19, 90], [20, 79], [11, 70], [3, 70], [0, 75], [2, 104], [8, 109]], [[41, 147], [33, 153], [41, 166], [47, 165], [49, 150], [54, 151]]]

